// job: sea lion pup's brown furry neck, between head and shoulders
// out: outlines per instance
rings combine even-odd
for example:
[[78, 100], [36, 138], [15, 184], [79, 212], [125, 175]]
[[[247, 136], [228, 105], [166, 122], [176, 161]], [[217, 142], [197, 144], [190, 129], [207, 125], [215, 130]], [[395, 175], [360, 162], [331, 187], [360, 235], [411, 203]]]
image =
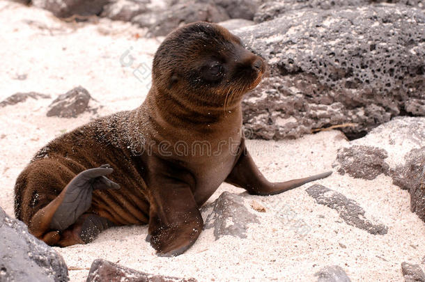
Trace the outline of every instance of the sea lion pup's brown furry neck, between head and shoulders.
[[134, 139], [144, 134], [145, 139], [160, 141], [196, 139], [220, 140], [222, 136], [235, 136], [242, 127], [240, 102], [224, 111], [208, 104], [176, 101], [173, 97], [157, 93], [151, 88], [146, 100], [132, 111], [129, 123]]

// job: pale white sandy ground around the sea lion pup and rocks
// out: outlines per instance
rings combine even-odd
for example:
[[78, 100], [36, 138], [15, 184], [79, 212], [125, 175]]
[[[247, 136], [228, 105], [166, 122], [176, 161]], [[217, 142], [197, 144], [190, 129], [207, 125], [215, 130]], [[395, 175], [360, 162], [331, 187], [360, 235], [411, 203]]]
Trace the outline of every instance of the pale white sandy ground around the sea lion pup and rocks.
[[[160, 43], [160, 38], [144, 39], [144, 32], [107, 19], [66, 24], [44, 10], [0, 0], [0, 100], [27, 91], [53, 99], [81, 85], [98, 101], [93, 107], [102, 106], [97, 114], [73, 119], [47, 118], [52, 99], [0, 109], [0, 205], [8, 214], [13, 214], [15, 179], [41, 146], [93, 118], [133, 109], [144, 100], [146, 74]], [[18, 79], [22, 75], [27, 78]], [[333, 131], [297, 140], [249, 141], [248, 146], [261, 171], [277, 181], [332, 169], [337, 149], [347, 144]], [[147, 227], [127, 226], [111, 228], [91, 244], [55, 249], [68, 267], [77, 269], [70, 270], [71, 281], [84, 281], [95, 258], [199, 281], [315, 281], [314, 273], [327, 265], [340, 265], [352, 281], [402, 281], [403, 261], [425, 267], [425, 225], [410, 212], [407, 191], [384, 175], [368, 181], [334, 173], [318, 183], [355, 199], [366, 217], [389, 226], [387, 235], [348, 226], [335, 210], [307, 195], [304, 190], [310, 185], [268, 197], [222, 185], [209, 202], [227, 190], [244, 193], [247, 207], [252, 199], [269, 207], [256, 212], [261, 224], [249, 226], [246, 239], [226, 236], [215, 241], [212, 230], [206, 230], [182, 256], [159, 258], [144, 240]], [[282, 209], [295, 212], [295, 219], [279, 220]], [[307, 235], [295, 232], [293, 225], [299, 221], [311, 228]]]

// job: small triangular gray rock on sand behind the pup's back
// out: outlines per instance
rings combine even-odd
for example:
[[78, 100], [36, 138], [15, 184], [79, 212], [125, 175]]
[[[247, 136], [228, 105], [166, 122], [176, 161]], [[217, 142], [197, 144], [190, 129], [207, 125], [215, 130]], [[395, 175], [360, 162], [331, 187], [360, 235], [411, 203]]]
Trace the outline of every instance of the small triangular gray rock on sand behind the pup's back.
[[88, 110], [88, 102], [91, 95], [82, 86], [78, 86], [65, 94], [59, 95], [50, 104], [47, 116], [59, 116], [60, 118], [75, 118], [80, 113]]

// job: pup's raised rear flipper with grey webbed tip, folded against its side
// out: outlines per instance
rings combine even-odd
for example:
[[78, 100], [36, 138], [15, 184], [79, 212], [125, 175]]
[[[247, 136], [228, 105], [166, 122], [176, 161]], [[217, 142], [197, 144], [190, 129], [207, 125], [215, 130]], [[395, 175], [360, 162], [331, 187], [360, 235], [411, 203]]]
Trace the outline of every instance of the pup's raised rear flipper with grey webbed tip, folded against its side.
[[42, 238], [48, 230], [62, 231], [74, 224], [91, 206], [94, 189], [118, 189], [120, 187], [106, 178], [106, 175], [113, 171], [108, 164], [105, 164], [75, 176], [59, 196], [34, 214], [29, 224], [31, 233]]

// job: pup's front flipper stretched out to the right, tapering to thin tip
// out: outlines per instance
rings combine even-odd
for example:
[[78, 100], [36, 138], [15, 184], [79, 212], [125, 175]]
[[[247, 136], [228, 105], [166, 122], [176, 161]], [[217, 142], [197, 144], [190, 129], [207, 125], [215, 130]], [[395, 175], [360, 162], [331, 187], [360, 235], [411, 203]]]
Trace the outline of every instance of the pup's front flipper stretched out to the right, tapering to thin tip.
[[240, 156], [238, 157], [231, 173], [224, 181], [231, 185], [235, 185], [236, 187], [246, 189], [249, 194], [267, 196], [300, 187], [307, 182], [327, 178], [327, 176], [331, 174], [332, 171], [328, 171], [326, 173], [320, 173], [307, 178], [294, 179], [286, 182], [269, 182], [265, 179], [263, 173], [258, 170], [254, 160], [251, 155], [249, 155], [245, 146], [245, 140], [242, 139], [242, 142], [240, 143]]

